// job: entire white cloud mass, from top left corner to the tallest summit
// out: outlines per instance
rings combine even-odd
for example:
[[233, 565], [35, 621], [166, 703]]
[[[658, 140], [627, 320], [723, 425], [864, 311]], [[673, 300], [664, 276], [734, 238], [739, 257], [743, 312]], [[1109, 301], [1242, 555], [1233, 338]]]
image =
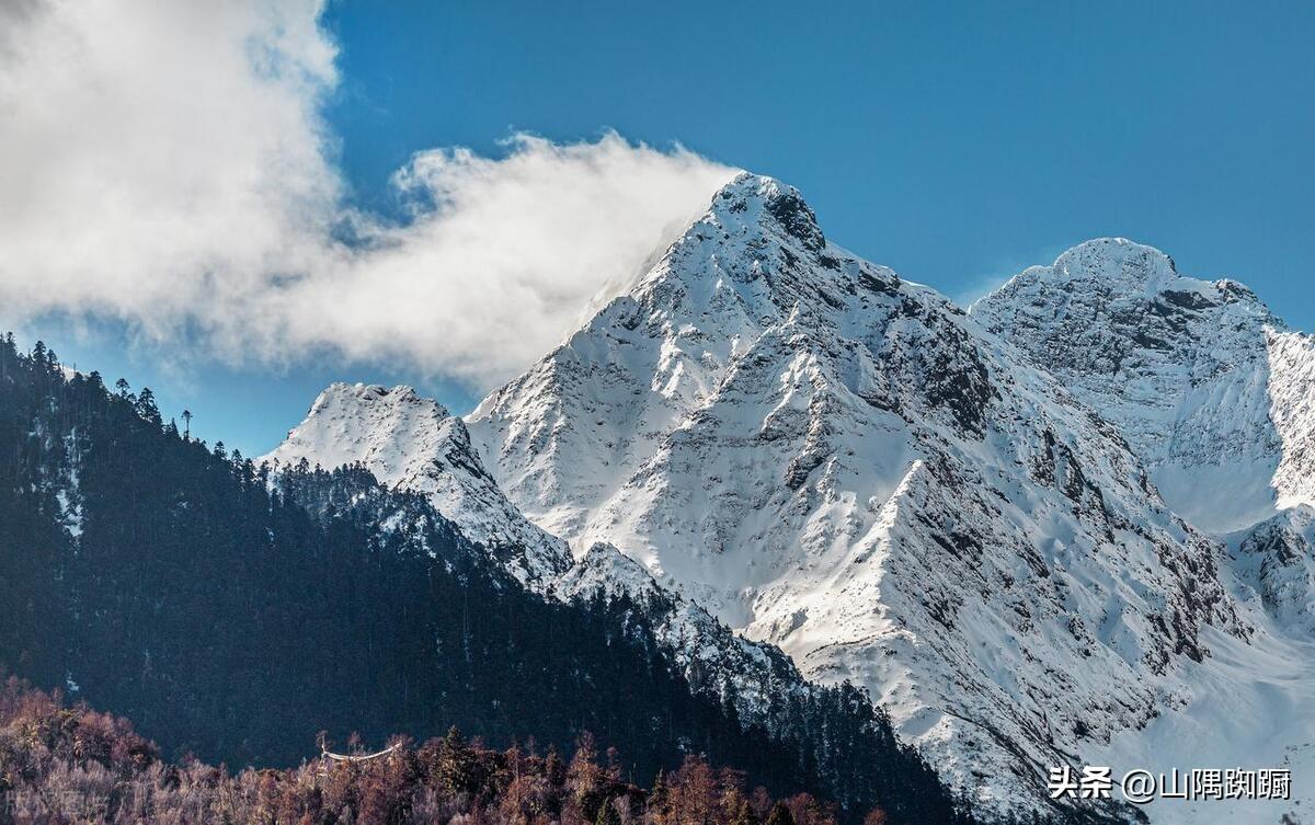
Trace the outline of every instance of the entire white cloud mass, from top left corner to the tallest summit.
[[[481, 385], [554, 346], [732, 171], [618, 135], [433, 150], [351, 213], [312, 0], [0, 7], [0, 321], [126, 322], [227, 360], [330, 351]], [[368, 239], [334, 240], [343, 221]]]

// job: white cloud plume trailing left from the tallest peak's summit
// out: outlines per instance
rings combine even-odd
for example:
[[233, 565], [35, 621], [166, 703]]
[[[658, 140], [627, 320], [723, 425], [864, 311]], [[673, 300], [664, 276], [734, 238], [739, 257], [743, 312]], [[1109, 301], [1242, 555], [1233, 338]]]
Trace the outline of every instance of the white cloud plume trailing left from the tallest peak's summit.
[[[417, 155], [397, 183], [435, 206], [377, 230], [376, 248], [331, 275], [288, 289], [312, 322], [293, 323], [293, 343], [510, 377], [581, 321], [600, 290], [614, 294], [673, 240], [732, 175], [615, 134], [569, 146], [521, 135], [509, 150], [498, 160]], [[321, 340], [323, 328], [331, 340]]]

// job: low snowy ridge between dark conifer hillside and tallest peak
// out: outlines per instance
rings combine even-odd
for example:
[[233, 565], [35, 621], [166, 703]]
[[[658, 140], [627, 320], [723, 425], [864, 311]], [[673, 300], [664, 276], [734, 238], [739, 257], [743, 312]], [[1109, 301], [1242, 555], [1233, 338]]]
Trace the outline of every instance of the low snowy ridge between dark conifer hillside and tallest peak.
[[760, 721], [771, 698], [801, 690], [798, 671], [768, 645], [742, 638], [615, 548], [598, 544], [573, 561], [560, 539], [502, 495], [472, 451], [460, 418], [409, 386], [334, 384], [305, 420], [260, 461], [277, 472], [301, 461], [360, 464], [381, 483], [425, 494], [463, 535], [523, 585], [564, 602], [626, 595], [647, 611], [658, 641], [697, 684], [732, 698]]

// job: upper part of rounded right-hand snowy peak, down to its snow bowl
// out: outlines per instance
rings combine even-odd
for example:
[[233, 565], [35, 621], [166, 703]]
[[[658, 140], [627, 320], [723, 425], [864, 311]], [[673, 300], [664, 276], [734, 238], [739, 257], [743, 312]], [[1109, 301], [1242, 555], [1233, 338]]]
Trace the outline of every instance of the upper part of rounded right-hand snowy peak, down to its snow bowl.
[[1120, 432], [1173, 508], [1227, 533], [1315, 502], [1315, 344], [1236, 281], [1102, 238], [972, 307]]

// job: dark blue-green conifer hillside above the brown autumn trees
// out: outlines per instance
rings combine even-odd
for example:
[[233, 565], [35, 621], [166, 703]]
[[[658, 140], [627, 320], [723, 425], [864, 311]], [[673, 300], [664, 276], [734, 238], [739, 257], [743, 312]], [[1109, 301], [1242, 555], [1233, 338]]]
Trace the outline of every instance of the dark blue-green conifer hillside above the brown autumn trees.
[[[957, 818], [935, 774], [849, 687], [746, 729], [623, 599], [525, 591], [418, 497], [360, 469], [277, 483], [164, 420], [150, 390], [66, 376], [0, 342], [0, 665], [133, 719], [170, 758], [288, 766], [316, 733], [451, 725], [505, 747], [618, 749], [617, 782], [689, 755], [857, 820]], [[610, 814], [609, 814], [610, 816]]]

